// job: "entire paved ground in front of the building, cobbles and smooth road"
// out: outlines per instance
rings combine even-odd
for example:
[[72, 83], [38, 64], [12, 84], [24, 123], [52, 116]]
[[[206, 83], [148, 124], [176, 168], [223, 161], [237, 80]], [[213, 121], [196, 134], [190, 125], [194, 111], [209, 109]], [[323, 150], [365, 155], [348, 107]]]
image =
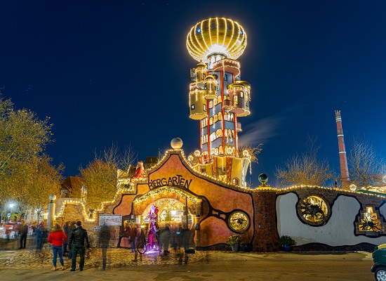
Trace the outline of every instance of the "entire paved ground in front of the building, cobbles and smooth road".
[[[167, 256], [157, 251], [134, 254], [130, 249], [108, 249], [107, 269], [102, 270], [100, 249], [91, 249], [90, 259], [75, 272], [64, 257], [66, 270], [53, 271], [50, 247], [0, 251], [0, 280], [374, 280], [370, 268], [371, 253], [356, 252], [232, 252], [196, 251], [185, 254], [171, 251]], [[59, 264], [59, 261], [58, 261]]]

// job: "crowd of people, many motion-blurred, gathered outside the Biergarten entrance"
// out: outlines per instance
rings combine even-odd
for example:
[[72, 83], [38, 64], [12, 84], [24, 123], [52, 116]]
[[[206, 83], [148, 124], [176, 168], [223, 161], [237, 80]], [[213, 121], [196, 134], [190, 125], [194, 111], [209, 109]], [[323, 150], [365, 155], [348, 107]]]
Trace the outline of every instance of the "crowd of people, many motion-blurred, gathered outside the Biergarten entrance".
[[[169, 249], [175, 252], [180, 249], [187, 249], [194, 244], [192, 241], [194, 233], [182, 226], [182, 223], [161, 223], [157, 221], [157, 209], [153, 209], [152, 221], [143, 228], [140, 224], [126, 223], [124, 227], [124, 237], [128, 239], [131, 250], [138, 255], [137, 246], [142, 242], [147, 245], [147, 251], [159, 251], [162, 255], [170, 254]], [[28, 226], [25, 221], [15, 223], [13, 228], [15, 237], [18, 240], [18, 249], [25, 249], [27, 244], [27, 235], [31, 235], [28, 239], [29, 249], [41, 253], [46, 242], [51, 243], [53, 252], [53, 270], [67, 269], [63, 258], [71, 259], [71, 270], [76, 270], [76, 257], [79, 256], [79, 270], [84, 268], [84, 259], [89, 251], [90, 242], [88, 241], [88, 233], [82, 228], [81, 221], [67, 221], [62, 226], [59, 223], [54, 223], [53, 228], [48, 229], [46, 223], [41, 221]], [[35, 235], [35, 236], [33, 236]], [[111, 231], [109, 226], [100, 226], [98, 231], [98, 240], [96, 246], [101, 249], [102, 253], [102, 270], [107, 266], [107, 249], [112, 245], [109, 244], [111, 239]], [[59, 259], [60, 267], [57, 266]]]

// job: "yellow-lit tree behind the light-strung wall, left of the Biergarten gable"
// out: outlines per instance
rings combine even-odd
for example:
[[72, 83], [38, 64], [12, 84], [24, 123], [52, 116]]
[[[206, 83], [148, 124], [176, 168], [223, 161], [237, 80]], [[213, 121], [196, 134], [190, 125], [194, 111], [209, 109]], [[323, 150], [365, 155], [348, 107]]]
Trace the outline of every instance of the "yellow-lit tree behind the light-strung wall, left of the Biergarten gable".
[[90, 209], [98, 209], [102, 202], [114, 200], [117, 194], [117, 171], [128, 171], [134, 163], [137, 154], [132, 148], [125, 148], [123, 152], [117, 145], [112, 144], [99, 154], [95, 152], [93, 162], [86, 168], [80, 167], [81, 178], [86, 187], [86, 205]]

